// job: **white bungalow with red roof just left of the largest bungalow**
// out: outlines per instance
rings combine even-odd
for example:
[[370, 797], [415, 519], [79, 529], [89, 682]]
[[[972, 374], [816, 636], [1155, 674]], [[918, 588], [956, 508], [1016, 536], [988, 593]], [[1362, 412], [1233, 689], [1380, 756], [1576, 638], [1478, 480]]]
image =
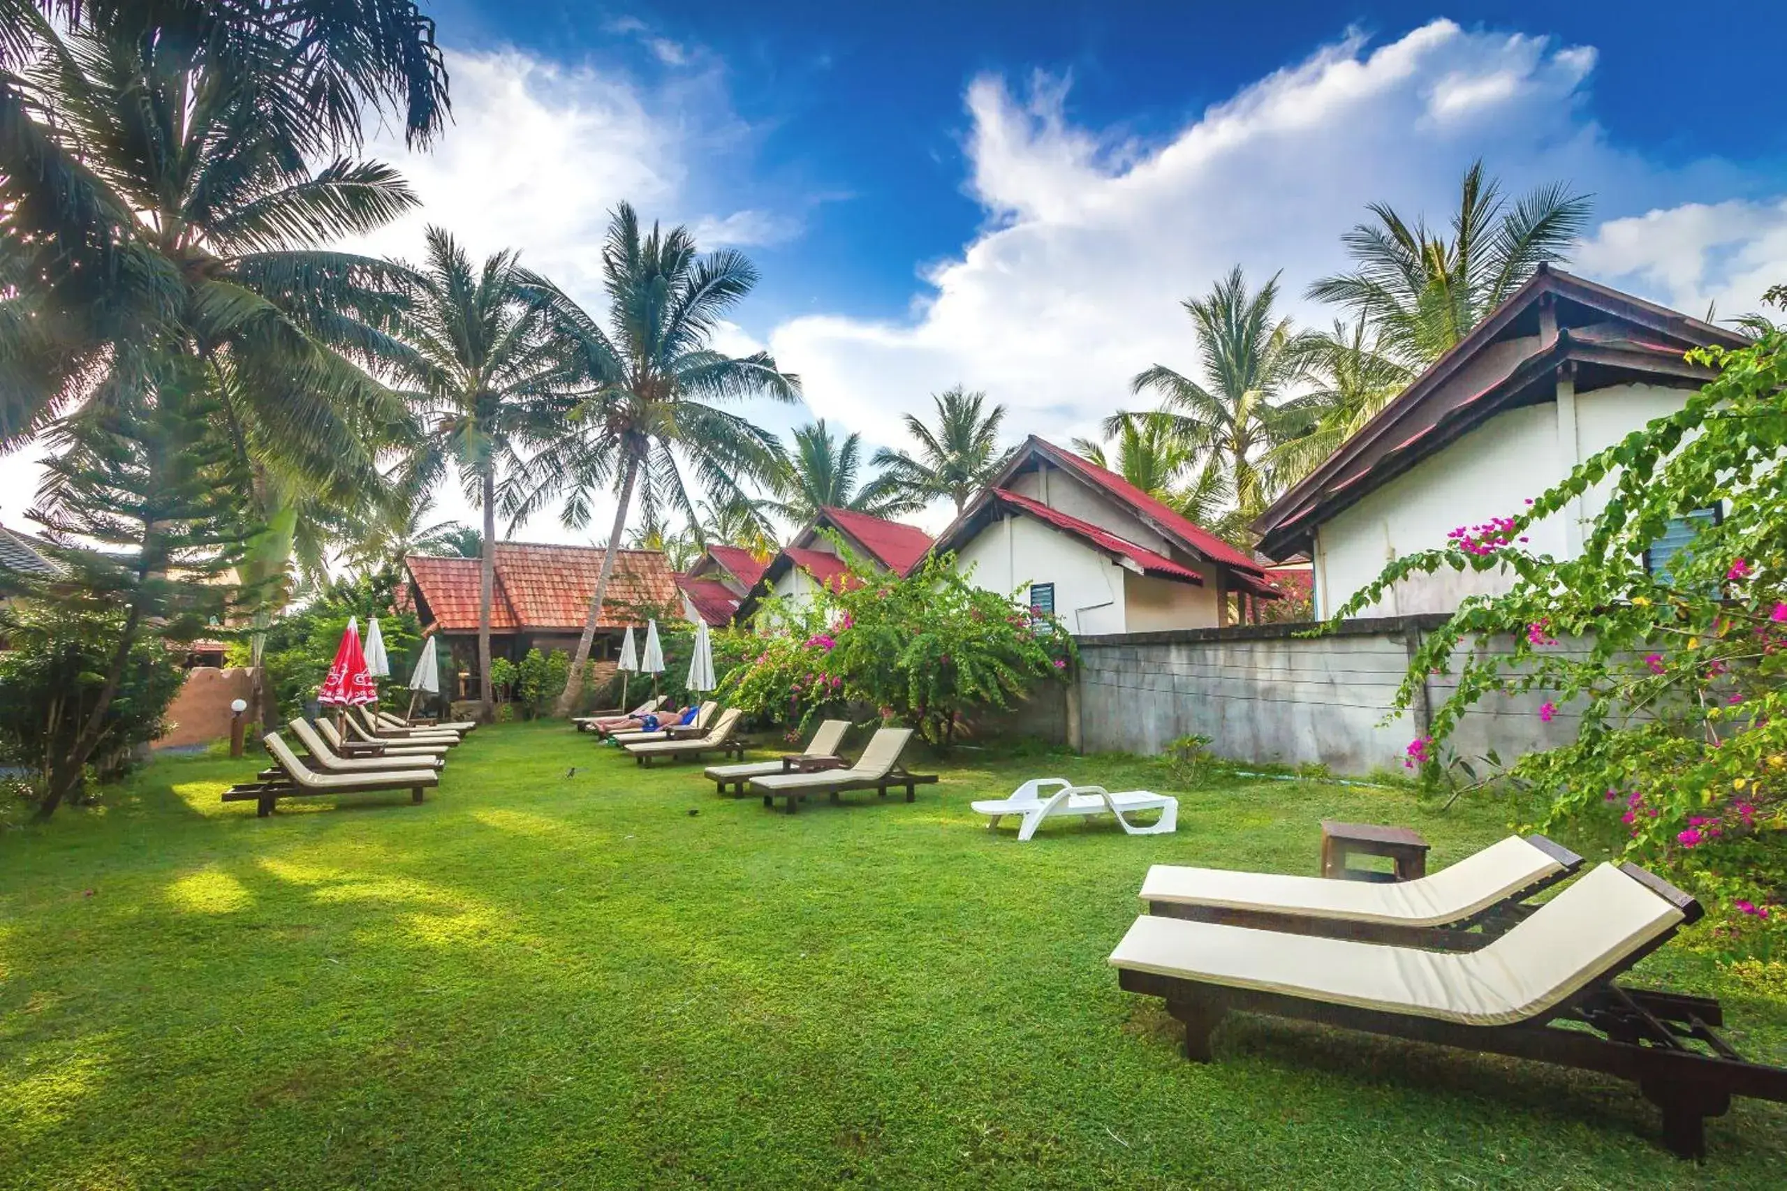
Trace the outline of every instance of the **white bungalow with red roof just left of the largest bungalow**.
[[1083, 636], [1219, 629], [1283, 595], [1246, 550], [1036, 436], [933, 548]]

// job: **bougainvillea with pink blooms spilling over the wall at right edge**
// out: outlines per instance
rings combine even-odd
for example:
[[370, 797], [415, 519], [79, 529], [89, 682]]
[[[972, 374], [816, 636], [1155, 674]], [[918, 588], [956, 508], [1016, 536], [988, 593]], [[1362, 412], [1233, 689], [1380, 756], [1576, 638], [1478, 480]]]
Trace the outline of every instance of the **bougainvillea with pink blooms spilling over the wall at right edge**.
[[[1465, 511], [1481, 521], [1444, 550], [1392, 562], [1337, 620], [1406, 575], [1506, 566], [1514, 587], [1460, 604], [1410, 662], [1403, 709], [1424, 675], [1458, 671], [1428, 736], [1410, 743], [1410, 764], [1439, 779], [1447, 736], [1481, 700], [1535, 693], [1548, 721], [1558, 707], [1580, 711], [1574, 743], [1521, 757], [1498, 777], [1537, 796], [1542, 830], [1607, 837], [1691, 887], [1730, 954], [1778, 957], [1787, 941], [1787, 334], [1691, 359], [1719, 375], [1680, 412], [1523, 509]], [[1524, 546], [1528, 525], [1567, 516], [1573, 500], [1603, 484], [1608, 502], [1581, 557]], [[1653, 573], [1648, 548], [1683, 518], [1692, 537]], [[1512, 648], [1474, 648], [1498, 639]]]

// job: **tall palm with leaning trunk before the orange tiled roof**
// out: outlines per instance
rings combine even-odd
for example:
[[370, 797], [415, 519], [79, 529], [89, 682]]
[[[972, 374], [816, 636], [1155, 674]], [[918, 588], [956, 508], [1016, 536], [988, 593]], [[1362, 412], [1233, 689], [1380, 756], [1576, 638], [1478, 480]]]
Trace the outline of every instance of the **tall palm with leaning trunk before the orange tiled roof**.
[[[699, 254], [686, 227], [661, 232], [654, 223], [642, 232], [638, 214], [620, 204], [602, 245], [602, 275], [606, 329], [558, 289], [540, 286], [558, 334], [575, 350], [586, 389], [565, 434], [531, 461], [513, 516], [565, 496], [565, 525], [583, 527], [591, 496], [611, 489], [618, 496], [611, 543], [625, 532], [636, 491], [647, 523], [659, 523], [663, 509], [695, 520], [684, 466], [709, 500], [749, 500], [743, 484], [772, 480], [781, 445], [720, 405], [747, 396], [793, 402], [801, 395], [801, 382], [777, 371], [767, 352], [731, 357], [711, 346], [718, 320], [756, 286], [756, 268], [738, 252]], [[613, 568], [609, 550], [558, 702], [561, 716], [583, 691]]]

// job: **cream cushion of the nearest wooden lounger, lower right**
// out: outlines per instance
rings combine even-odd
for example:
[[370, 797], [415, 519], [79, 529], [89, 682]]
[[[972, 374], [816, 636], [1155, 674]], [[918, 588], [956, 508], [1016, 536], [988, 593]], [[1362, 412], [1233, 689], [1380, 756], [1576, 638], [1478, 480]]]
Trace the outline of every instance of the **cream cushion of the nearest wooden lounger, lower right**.
[[1680, 921], [1680, 909], [1601, 864], [1480, 952], [1424, 952], [1144, 914], [1110, 962], [1333, 1005], [1508, 1025], [1558, 1005]]

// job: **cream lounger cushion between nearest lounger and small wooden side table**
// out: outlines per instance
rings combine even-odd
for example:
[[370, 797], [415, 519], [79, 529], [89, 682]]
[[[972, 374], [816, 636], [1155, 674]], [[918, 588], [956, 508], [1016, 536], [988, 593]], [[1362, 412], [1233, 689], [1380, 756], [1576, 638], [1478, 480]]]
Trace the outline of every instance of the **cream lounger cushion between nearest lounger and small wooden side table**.
[[1401, 927], [1444, 927], [1489, 909], [1562, 868], [1556, 857], [1519, 836], [1508, 836], [1437, 873], [1401, 882], [1328, 880], [1154, 864], [1142, 882], [1142, 900]]

